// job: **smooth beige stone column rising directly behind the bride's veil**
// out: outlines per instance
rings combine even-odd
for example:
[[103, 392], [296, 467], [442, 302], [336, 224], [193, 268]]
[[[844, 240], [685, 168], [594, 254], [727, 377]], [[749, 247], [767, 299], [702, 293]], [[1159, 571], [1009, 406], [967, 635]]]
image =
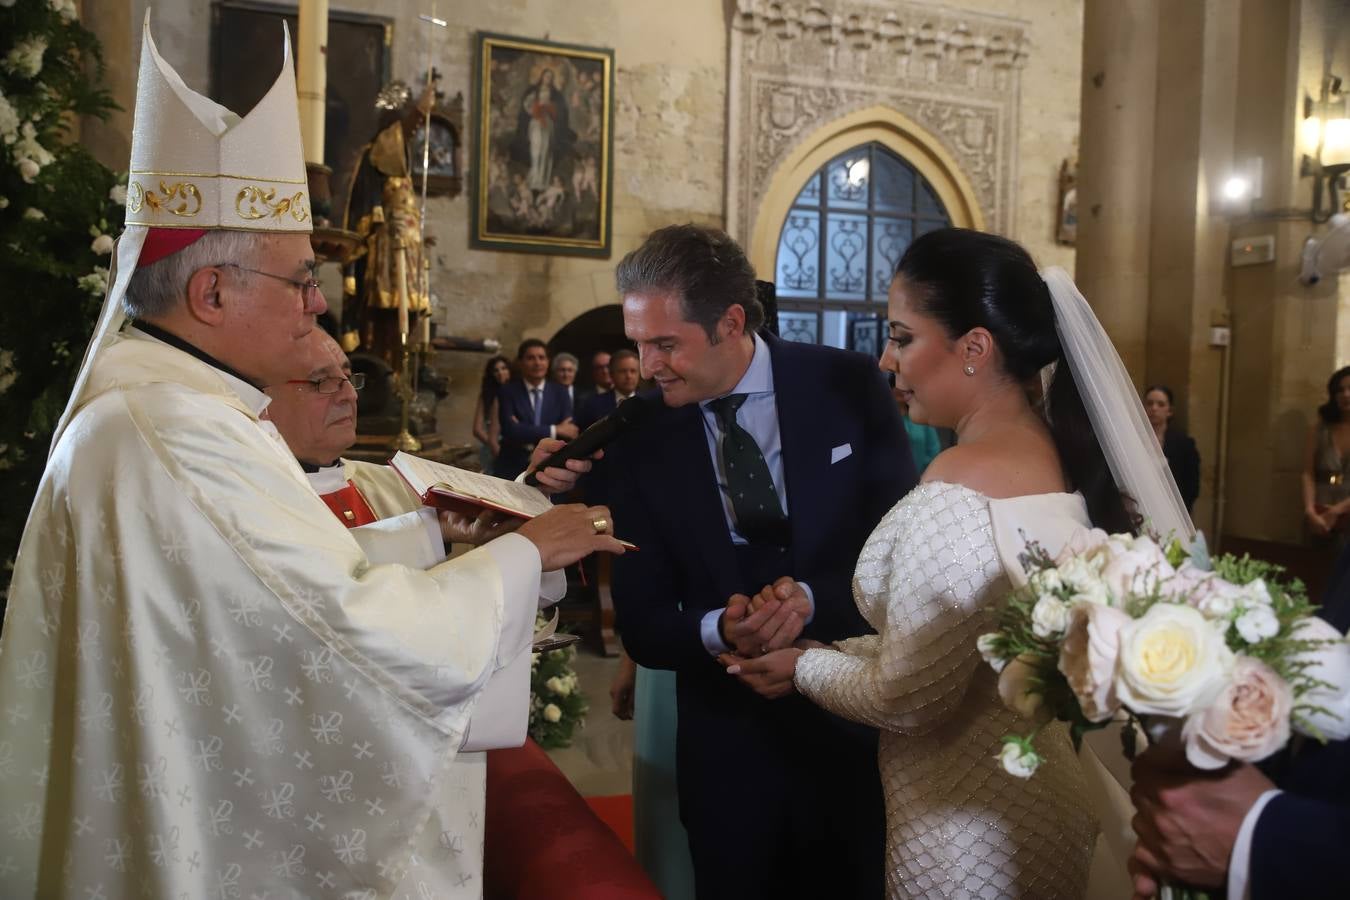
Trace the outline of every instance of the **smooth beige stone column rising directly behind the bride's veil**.
[[1142, 383], [1158, 0], [1087, 0], [1079, 150], [1077, 283]]

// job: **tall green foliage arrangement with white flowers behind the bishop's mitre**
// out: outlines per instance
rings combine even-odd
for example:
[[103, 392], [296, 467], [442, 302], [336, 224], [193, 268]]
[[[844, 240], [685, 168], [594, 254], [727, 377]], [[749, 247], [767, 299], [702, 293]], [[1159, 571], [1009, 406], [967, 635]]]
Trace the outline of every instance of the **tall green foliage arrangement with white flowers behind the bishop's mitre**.
[[0, 4], [0, 561], [28, 506], [103, 302], [126, 192], [76, 143], [115, 108], [74, 0]]

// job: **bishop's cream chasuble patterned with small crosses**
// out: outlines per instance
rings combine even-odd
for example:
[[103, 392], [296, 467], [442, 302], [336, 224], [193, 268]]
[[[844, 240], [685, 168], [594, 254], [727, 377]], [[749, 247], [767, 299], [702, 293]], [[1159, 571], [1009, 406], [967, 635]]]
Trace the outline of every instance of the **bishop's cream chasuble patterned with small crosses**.
[[373, 563], [250, 391], [135, 336], [94, 362], [0, 636], [0, 896], [482, 893], [452, 764], [539, 555]]

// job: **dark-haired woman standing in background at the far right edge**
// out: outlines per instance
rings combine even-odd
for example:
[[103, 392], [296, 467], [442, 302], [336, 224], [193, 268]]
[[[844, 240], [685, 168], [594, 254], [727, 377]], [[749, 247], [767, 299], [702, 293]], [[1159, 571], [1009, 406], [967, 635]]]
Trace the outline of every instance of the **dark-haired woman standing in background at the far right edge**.
[[1350, 511], [1350, 484], [1346, 482], [1350, 449], [1350, 366], [1338, 368], [1327, 381], [1327, 402], [1318, 407], [1318, 421], [1308, 432], [1308, 455], [1303, 467], [1303, 513], [1312, 533], [1326, 537], [1336, 532], [1345, 544], [1346, 513]]

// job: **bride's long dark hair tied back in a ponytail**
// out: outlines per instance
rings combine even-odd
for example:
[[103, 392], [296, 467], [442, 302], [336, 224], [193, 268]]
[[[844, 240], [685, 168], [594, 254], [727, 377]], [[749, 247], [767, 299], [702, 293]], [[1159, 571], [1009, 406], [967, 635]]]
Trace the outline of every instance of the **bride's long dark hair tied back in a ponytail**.
[[1027, 383], [1058, 363], [1045, 413], [1060, 463], [1088, 515], [1108, 532], [1135, 532], [1138, 518], [1115, 486], [1092, 432], [1079, 387], [1054, 331], [1050, 289], [1021, 246], [979, 231], [942, 228], [918, 237], [895, 267], [910, 297], [956, 339], [986, 328], [1003, 356], [1003, 370]]

